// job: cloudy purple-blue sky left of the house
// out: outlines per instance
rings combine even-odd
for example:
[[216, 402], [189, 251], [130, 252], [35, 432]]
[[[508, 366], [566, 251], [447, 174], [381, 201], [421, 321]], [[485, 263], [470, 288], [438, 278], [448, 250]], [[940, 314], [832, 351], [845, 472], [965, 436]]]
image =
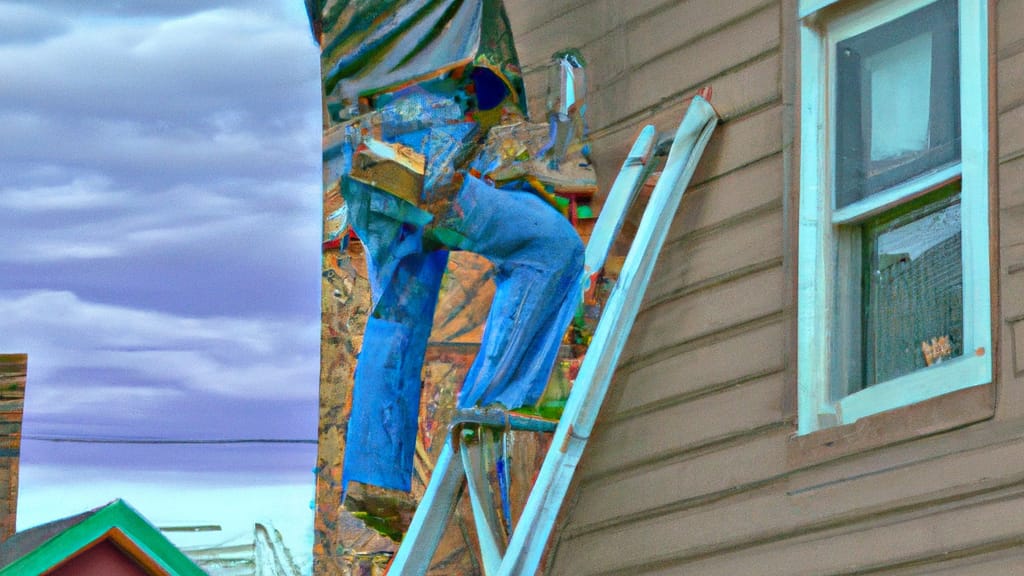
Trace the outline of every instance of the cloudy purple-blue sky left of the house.
[[312, 444], [108, 441], [315, 439], [317, 74], [300, 0], [0, 0], [19, 527], [122, 495], [185, 522], [171, 491], [204, 524], [248, 521], [246, 490], [311, 513]]

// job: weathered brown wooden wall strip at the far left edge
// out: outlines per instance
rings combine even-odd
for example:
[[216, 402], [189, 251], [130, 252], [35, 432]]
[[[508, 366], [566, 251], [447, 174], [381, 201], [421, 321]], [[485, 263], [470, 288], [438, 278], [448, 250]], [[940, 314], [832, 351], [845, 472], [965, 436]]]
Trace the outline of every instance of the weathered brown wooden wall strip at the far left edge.
[[14, 534], [29, 357], [0, 354], [0, 541]]

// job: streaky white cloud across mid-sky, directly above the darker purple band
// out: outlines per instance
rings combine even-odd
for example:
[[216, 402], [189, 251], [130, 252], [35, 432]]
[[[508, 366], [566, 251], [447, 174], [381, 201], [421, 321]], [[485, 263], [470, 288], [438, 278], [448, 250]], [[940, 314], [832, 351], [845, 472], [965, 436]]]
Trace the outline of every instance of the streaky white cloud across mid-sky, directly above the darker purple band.
[[[275, 257], [294, 259], [281, 251], [316, 250], [319, 198], [318, 182], [299, 178], [183, 183], [159, 192], [116, 188], [101, 176], [0, 188], [0, 262], [112, 260], [157, 253], [226, 257], [224, 252], [260, 238], [282, 239]], [[254, 254], [233, 257], [252, 259]], [[261, 262], [274, 265], [272, 259]]]

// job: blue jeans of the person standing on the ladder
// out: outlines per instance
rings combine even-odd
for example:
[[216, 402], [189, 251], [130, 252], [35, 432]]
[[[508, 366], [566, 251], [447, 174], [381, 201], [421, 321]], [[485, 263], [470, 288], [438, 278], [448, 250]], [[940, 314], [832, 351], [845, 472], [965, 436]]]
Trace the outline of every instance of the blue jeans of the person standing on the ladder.
[[[449, 250], [486, 257], [497, 285], [460, 407], [536, 404], [579, 304], [584, 248], [569, 222], [532, 193], [464, 178], [449, 210], [433, 218], [343, 177], [374, 292], [355, 369], [343, 490], [350, 480], [412, 487], [421, 371]], [[425, 236], [443, 247], [424, 248]]]

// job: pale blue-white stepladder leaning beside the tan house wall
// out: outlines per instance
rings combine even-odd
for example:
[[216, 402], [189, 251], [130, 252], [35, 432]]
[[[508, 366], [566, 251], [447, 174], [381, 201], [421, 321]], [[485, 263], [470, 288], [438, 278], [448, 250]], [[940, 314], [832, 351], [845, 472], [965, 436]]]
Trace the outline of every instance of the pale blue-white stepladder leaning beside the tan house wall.
[[[710, 91], [707, 93], [710, 97]], [[454, 422], [423, 500], [388, 570], [390, 576], [426, 574], [455, 510], [464, 480], [469, 488], [484, 574], [524, 576], [537, 572], [640, 310], [669, 225], [717, 124], [718, 115], [711, 104], [700, 95], [694, 96], [676, 130], [662, 176], [651, 194], [618, 280], [602, 311], [561, 418], [556, 423], [505, 411], [475, 410], [468, 411]], [[604, 265], [626, 213], [649, 174], [648, 160], [654, 149], [654, 127], [644, 127], [623, 163], [587, 245], [581, 282], [589, 282], [591, 275]], [[463, 425], [470, 423], [554, 433], [541, 471], [507, 545], [479, 451], [459, 442], [458, 438], [453, 439]], [[461, 462], [455, 457], [457, 450]]]

